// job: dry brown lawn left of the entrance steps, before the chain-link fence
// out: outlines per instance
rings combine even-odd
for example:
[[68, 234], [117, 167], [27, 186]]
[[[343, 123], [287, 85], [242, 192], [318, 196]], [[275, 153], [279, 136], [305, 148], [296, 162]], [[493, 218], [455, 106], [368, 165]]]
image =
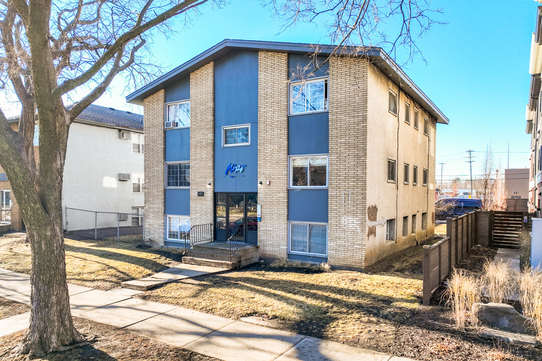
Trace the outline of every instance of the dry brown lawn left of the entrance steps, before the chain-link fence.
[[[30, 246], [24, 233], [0, 236], [0, 268], [30, 273]], [[141, 238], [123, 236], [105, 240], [66, 241], [66, 273], [69, 283], [111, 290], [122, 281], [147, 277], [178, 264], [182, 255], [141, 248]]]

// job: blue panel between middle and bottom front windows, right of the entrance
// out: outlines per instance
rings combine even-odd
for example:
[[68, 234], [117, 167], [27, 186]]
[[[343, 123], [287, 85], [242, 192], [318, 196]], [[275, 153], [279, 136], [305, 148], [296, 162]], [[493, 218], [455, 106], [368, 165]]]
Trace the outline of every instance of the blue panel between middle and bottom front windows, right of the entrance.
[[327, 189], [288, 189], [288, 220], [327, 223]]

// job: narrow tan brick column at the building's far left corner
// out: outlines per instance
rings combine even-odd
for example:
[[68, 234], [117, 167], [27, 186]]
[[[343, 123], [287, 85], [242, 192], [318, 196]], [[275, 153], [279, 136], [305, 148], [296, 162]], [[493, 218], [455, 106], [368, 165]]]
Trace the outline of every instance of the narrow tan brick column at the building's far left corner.
[[145, 239], [164, 244], [164, 90], [144, 100]]

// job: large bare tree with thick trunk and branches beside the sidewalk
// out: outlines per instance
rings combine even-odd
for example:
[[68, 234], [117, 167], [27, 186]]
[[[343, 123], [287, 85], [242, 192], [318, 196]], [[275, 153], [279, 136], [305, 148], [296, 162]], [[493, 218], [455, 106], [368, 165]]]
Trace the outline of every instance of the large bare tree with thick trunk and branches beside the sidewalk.
[[[160, 69], [148, 60], [149, 41], [170, 36], [173, 18], [190, 24], [207, 2], [209, 11], [222, 6], [221, 0], [0, 2], [0, 87], [22, 108], [15, 129], [0, 110], [0, 164], [27, 226], [32, 266], [30, 329], [18, 352], [42, 356], [81, 340], [69, 309], [62, 233], [70, 124], [115, 75], [124, 73], [132, 84], [155, 77]], [[415, 40], [440, 12], [429, 0], [281, 0], [267, 5], [285, 19], [285, 27], [322, 18], [337, 51], [345, 45], [382, 44], [392, 55], [404, 47], [409, 59], [420, 56]], [[392, 24], [385, 19], [393, 19]], [[66, 107], [64, 102], [74, 96], [79, 101]]]

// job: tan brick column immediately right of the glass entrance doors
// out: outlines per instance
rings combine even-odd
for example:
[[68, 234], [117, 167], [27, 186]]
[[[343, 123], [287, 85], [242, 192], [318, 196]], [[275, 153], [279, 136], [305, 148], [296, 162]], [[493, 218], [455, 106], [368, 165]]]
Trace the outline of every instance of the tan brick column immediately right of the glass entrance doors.
[[[288, 245], [288, 55], [258, 57], [258, 224], [261, 257], [286, 257]], [[267, 181], [270, 182], [267, 185]]]

